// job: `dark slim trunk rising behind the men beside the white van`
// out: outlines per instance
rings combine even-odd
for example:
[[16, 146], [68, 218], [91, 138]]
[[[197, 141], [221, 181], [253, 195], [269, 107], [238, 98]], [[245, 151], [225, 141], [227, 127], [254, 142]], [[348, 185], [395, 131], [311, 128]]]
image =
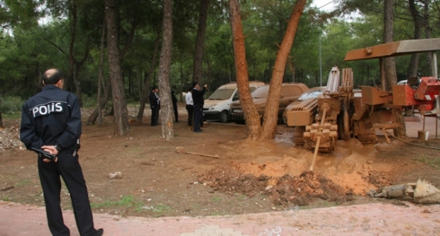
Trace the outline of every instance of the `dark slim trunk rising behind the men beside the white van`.
[[204, 35], [207, 31], [209, 0], [200, 1], [199, 26], [197, 27], [196, 48], [194, 52], [194, 64], [192, 80], [202, 84], [202, 57], [204, 46]]

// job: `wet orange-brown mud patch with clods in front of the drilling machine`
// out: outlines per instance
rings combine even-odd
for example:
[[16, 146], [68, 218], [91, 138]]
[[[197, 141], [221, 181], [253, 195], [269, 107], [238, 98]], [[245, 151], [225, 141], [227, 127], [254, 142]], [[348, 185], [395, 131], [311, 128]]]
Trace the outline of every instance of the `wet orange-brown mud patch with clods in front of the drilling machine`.
[[[255, 145], [249, 148], [248, 145]], [[358, 140], [339, 141], [330, 154], [319, 154], [314, 172], [309, 172], [313, 152], [302, 147], [283, 149], [280, 144], [243, 142], [250, 162], [218, 166], [199, 176], [199, 181], [224, 193], [254, 196], [264, 193], [276, 205], [304, 206], [317, 198], [325, 201], [351, 201], [353, 195], [365, 196], [371, 189], [391, 184], [386, 174], [375, 171], [375, 145]], [[375, 164], [381, 170], [387, 164]]]

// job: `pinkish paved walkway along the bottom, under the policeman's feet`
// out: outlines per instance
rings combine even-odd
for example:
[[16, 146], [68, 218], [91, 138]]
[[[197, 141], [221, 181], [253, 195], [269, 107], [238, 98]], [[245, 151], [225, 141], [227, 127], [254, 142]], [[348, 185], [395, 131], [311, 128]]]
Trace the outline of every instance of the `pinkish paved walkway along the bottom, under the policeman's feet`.
[[[71, 236], [79, 236], [71, 210]], [[440, 235], [440, 205], [374, 203], [275, 213], [209, 217], [119, 218], [94, 214], [104, 236]], [[0, 236], [50, 236], [45, 208], [0, 201]]]

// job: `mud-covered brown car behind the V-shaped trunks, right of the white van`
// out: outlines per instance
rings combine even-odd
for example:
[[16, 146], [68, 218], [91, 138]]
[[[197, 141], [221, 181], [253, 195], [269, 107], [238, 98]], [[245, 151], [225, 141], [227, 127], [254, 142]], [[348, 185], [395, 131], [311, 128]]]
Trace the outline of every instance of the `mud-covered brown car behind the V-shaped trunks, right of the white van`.
[[[293, 101], [297, 101], [299, 96], [307, 91], [309, 88], [302, 83], [284, 83], [281, 85], [280, 92], [280, 106], [278, 107], [278, 117], [281, 118], [287, 105]], [[266, 103], [268, 100], [269, 85], [260, 86], [251, 94], [253, 103], [257, 108], [258, 114], [263, 118]], [[243, 109], [241, 108], [240, 101], [234, 101], [231, 103], [230, 109], [231, 120], [235, 123], [245, 123], [245, 118], [243, 115]]]

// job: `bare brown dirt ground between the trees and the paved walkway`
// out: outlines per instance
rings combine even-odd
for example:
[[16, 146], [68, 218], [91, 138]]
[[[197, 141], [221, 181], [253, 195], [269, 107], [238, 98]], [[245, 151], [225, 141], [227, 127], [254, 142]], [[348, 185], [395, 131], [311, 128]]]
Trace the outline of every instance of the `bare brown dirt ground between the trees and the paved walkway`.
[[[129, 109], [131, 115], [136, 108]], [[87, 119], [90, 111], [83, 111]], [[249, 142], [246, 126], [207, 123], [203, 133], [192, 133], [180, 104], [175, 138], [160, 137], [161, 126], [142, 124], [131, 133], [113, 135], [106, 124], [83, 126], [80, 163], [94, 212], [112, 215], [175, 216], [261, 213], [295, 208], [317, 208], [398, 200], [370, 198], [380, 186], [426, 179], [440, 186], [440, 151], [415, 147], [378, 136], [375, 145], [356, 139], [338, 141], [335, 152], [319, 154], [314, 172], [307, 172], [312, 151], [292, 145], [290, 128], [278, 125], [270, 142]], [[19, 146], [20, 120], [4, 120], [0, 144], [0, 200], [44, 206], [36, 155]], [[408, 129], [416, 123], [407, 123]], [[417, 125], [420, 125], [417, 123]], [[407, 138], [417, 145], [440, 147], [440, 140]], [[17, 144], [18, 143], [18, 144]], [[175, 152], [218, 155], [204, 157]], [[121, 172], [120, 179], [109, 174]], [[69, 193], [62, 188], [62, 208], [70, 209]]]

